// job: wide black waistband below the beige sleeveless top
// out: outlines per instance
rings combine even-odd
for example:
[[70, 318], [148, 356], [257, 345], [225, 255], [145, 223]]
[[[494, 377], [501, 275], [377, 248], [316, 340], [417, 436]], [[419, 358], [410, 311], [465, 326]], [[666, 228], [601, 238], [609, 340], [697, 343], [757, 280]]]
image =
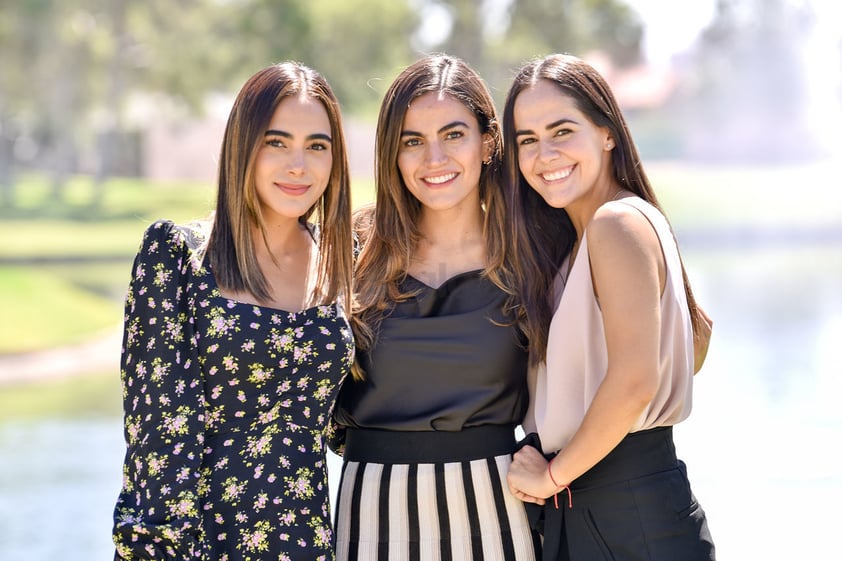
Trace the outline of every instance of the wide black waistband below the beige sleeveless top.
[[599, 463], [576, 478], [570, 487], [575, 497], [577, 490], [636, 479], [673, 469], [677, 465], [672, 427], [642, 430], [627, 435]]

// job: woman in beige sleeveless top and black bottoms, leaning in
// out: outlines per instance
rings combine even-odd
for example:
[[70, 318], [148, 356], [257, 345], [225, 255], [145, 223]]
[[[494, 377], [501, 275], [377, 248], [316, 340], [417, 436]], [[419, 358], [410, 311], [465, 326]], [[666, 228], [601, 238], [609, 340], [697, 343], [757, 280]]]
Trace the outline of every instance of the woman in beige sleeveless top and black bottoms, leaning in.
[[544, 558], [713, 559], [672, 440], [709, 326], [614, 96], [585, 62], [548, 56], [515, 77], [504, 130], [525, 330], [545, 365], [524, 423], [543, 450], [519, 451], [508, 481], [525, 501], [555, 495]]

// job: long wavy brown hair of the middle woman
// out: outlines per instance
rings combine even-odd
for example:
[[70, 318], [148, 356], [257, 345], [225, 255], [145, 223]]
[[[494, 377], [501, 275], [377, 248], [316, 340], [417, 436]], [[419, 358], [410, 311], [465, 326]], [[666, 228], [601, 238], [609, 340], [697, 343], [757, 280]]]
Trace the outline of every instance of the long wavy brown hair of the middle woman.
[[[360, 213], [365, 244], [356, 269], [354, 333], [358, 349], [369, 349], [380, 322], [395, 302], [408, 298], [400, 290], [419, 239], [421, 203], [410, 193], [398, 169], [400, 134], [409, 104], [429, 92], [447, 95], [477, 118], [481, 133], [491, 138], [490, 161], [479, 180], [483, 208], [486, 268], [483, 274], [509, 294], [510, 265], [502, 190], [502, 134], [494, 102], [485, 82], [462, 60], [425, 56], [395, 79], [380, 106], [375, 148], [375, 207]], [[371, 216], [373, 213], [373, 217]], [[368, 215], [366, 215], [368, 214]]]

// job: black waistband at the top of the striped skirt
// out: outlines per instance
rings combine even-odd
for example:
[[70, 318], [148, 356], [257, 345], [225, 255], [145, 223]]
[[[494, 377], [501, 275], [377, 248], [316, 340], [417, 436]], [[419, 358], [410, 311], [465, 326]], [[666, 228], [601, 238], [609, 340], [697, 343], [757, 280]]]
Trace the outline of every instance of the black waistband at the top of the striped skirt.
[[461, 431], [389, 431], [348, 428], [345, 460], [379, 464], [463, 462], [511, 454], [513, 425], [483, 425]]

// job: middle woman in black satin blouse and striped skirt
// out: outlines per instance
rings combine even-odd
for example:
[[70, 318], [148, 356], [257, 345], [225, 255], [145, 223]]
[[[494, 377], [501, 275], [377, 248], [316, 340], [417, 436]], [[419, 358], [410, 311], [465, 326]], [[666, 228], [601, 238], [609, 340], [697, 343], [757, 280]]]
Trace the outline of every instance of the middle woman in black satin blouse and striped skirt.
[[528, 392], [501, 155], [491, 96], [459, 59], [422, 58], [387, 91], [355, 272], [361, 375], [335, 415], [337, 559], [535, 558], [505, 484]]

